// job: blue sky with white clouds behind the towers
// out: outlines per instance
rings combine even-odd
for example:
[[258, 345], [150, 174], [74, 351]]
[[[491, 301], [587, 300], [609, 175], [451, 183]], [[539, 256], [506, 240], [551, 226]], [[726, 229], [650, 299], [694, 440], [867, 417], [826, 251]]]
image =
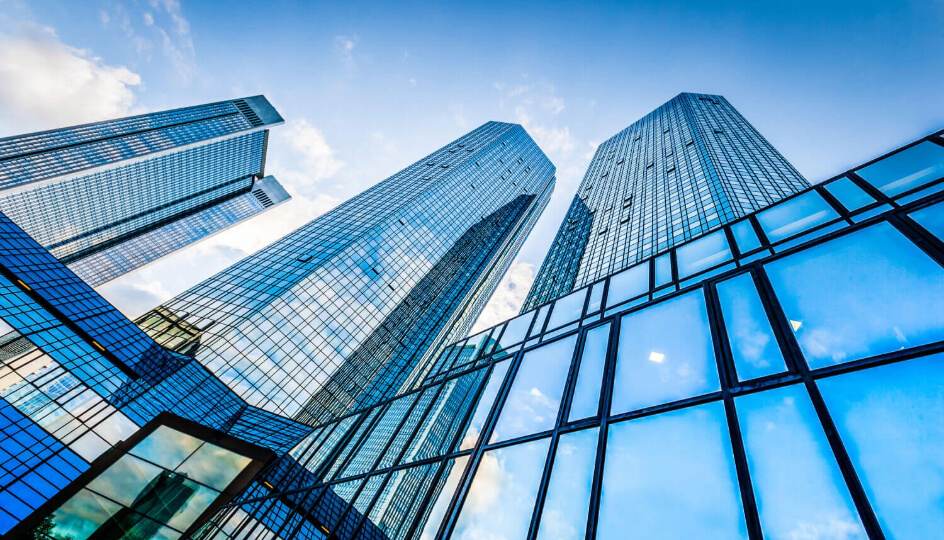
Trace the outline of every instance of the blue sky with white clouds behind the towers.
[[480, 317], [513, 316], [596, 145], [722, 94], [808, 179], [944, 127], [944, 2], [0, 0], [0, 136], [264, 94], [293, 199], [100, 291], [135, 316], [488, 120], [554, 197]]

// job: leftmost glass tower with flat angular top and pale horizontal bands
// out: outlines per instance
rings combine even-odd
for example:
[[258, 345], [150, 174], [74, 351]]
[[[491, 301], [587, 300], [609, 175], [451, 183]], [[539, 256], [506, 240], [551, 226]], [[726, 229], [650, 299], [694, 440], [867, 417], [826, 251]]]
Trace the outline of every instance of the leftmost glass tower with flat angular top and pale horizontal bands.
[[99, 285], [288, 199], [263, 96], [0, 139], [0, 210]]

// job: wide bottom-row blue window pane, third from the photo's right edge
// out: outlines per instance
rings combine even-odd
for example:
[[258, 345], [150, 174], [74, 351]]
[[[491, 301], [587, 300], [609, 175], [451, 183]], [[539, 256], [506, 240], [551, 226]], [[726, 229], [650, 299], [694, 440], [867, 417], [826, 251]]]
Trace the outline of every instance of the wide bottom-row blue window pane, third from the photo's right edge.
[[721, 403], [610, 425], [597, 538], [746, 538]]

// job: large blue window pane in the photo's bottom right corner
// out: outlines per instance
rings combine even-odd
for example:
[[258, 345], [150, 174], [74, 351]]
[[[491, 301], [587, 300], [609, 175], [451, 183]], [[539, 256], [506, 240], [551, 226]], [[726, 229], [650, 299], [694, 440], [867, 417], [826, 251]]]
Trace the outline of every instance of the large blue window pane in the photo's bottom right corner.
[[944, 531], [944, 354], [819, 381], [889, 538]]

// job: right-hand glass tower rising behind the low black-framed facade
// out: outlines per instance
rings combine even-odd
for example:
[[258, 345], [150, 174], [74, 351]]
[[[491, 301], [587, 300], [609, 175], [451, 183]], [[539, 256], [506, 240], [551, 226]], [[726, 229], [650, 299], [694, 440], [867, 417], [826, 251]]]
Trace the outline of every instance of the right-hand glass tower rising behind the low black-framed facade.
[[728, 100], [679, 94], [597, 148], [523, 309], [807, 187]]

